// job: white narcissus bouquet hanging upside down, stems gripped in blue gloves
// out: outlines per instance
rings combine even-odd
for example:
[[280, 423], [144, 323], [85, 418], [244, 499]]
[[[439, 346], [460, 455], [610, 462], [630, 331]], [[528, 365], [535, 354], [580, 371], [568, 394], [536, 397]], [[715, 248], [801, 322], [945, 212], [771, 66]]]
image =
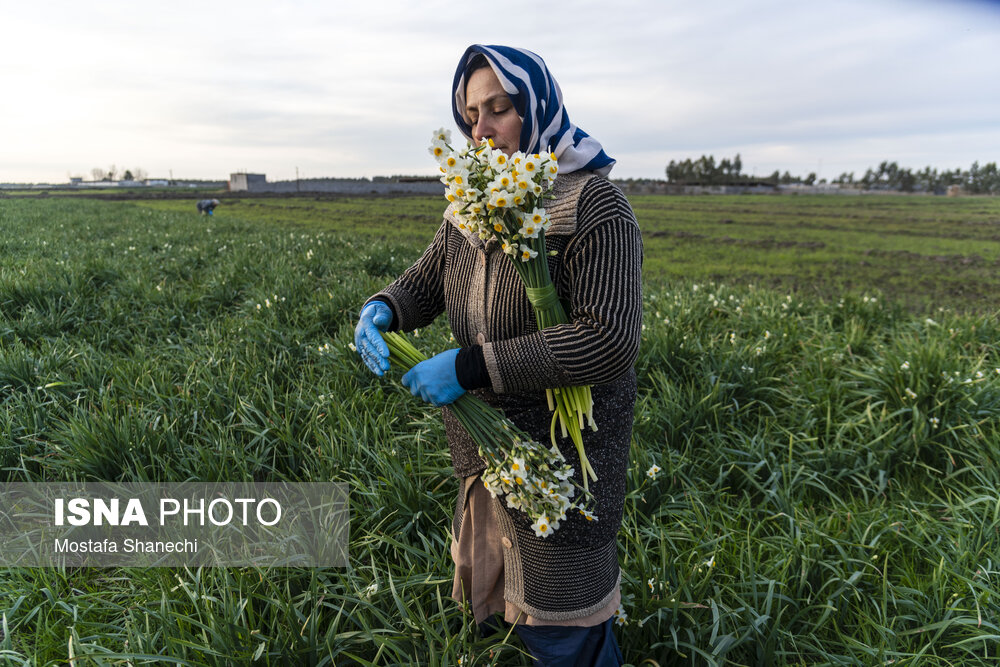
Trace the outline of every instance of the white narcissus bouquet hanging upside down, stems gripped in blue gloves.
[[[389, 360], [403, 370], [427, 358], [401, 334], [389, 332], [382, 337], [389, 346]], [[573, 468], [557, 447], [538, 444], [502, 412], [470, 394], [463, 394], [449, 407], [486, 460], [483, 484], [494, 498], [506, 496], [508, 507], [527, 514], [536, 535], [551, 535], [574, 508], [586, 519], [596, 520], [571, 500], [576, 495], [570, 479]]]

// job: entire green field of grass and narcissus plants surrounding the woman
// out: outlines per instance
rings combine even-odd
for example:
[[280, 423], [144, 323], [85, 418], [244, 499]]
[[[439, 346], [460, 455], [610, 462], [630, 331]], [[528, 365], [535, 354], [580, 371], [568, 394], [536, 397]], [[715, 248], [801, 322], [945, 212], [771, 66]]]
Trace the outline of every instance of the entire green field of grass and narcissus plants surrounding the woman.
[[[634, 204], [626, 660], [997, 664], [1000, 202]], [[0, 663], [523, 664], [448, 598], [438, 411], [348, 349], [440, 208], [0, 199], [5, 480], [341, 481], [352, 518], [346, 569], [0, 571]]]

